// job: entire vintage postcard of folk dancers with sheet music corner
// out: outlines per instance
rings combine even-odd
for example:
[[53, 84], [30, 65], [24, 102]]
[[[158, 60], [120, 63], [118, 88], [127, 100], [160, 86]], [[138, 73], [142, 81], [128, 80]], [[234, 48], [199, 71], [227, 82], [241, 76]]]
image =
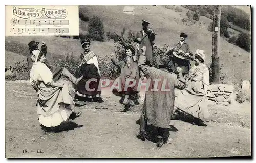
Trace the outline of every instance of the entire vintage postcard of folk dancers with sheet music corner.
[[252, 158], [250, 5], [5, 8], [6, 158]]

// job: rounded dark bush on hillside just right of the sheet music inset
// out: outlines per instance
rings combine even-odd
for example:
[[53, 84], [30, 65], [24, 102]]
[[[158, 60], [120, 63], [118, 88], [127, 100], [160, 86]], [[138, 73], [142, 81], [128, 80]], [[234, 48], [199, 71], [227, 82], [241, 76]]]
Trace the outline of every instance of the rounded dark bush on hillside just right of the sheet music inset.
[[88, 32], [92, 40], [104, 41], [104, 26], [100, 17], [93, 16], [88, 26]]

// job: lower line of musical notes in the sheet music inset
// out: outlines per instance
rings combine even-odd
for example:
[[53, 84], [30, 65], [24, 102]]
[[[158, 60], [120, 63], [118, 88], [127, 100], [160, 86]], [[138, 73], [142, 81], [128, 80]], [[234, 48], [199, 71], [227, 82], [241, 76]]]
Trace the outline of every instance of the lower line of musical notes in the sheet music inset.
[[69, 33], [68, 28], [11, 28], [11, 32], [18, 33]]

